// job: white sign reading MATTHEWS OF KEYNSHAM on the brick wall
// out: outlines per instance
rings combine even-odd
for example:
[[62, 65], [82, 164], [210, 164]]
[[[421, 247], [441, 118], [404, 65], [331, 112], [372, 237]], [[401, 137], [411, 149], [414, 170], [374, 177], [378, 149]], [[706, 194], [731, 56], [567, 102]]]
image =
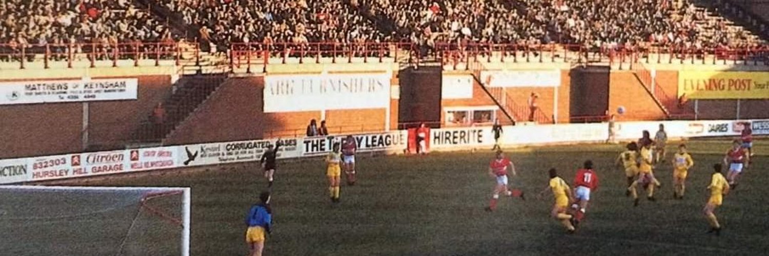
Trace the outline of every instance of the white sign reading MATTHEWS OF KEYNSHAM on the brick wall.
[[0, 105], [135, 100], [138, 79], [115, 78], [0, 83]]

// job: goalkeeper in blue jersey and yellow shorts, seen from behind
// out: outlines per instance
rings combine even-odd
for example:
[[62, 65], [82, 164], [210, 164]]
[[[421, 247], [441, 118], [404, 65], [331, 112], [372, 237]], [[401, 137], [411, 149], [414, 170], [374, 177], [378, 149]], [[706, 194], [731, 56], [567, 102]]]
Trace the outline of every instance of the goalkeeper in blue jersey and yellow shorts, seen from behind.
[[261, 203], [251, 206], [245, 224], [248, 229], [245, 231], [245, 242], [251, 249], [251, 256], [261, 256], [261, 251], [265, 249], [266, 234], [271, 233], [272, 227], [272, 209], [270, 208], [270, 192], [265, 191], [259, 194]]

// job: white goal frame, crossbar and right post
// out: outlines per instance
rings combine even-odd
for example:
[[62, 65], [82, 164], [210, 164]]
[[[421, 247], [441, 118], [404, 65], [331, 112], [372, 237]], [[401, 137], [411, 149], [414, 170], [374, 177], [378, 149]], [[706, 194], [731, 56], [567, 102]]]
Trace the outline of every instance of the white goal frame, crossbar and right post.
[[62, 191], [181, 191], [181, 256], [190, 254], [190, 188], [174, 187], [77, 187], [77, 186], [35, 186], [0, 185], [0, 189], [62, 190]]

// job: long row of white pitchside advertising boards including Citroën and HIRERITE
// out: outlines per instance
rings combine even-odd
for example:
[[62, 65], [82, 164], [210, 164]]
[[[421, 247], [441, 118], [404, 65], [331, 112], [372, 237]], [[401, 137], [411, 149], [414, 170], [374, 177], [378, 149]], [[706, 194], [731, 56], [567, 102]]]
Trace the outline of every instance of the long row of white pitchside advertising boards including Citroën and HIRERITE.
[[[668, 138], [737, 136], [750, 123], [754, 135], [769, 134], [769, 120], [707, 121], [631, 121], [618, 122], [617, 139], [635, 141], [641, 131], [654, 137], [660, 124]], [[325, 155], [342, 136], [279, 139], [278, 158], [300, 158]], [[361, 152], [401, 152], [408, 145], [408, 131], [391, 131], [355, 135]], [[504, 126], [501, 143], [511, 145], [548, 145], [604, 141], [608, 123]], [[437, 151], [468, 150], [491, 147], [491, 127], [431, 129], [430, 148]], [[68, 155], [0, 160], [0, 184], [43, 181], [93, 175], [112, 175], [129, 171], [218, 165], [242, 161], [259, 161], [269, 145], [278, 139], [229, 141], [161, 148], [101, 151]]]

